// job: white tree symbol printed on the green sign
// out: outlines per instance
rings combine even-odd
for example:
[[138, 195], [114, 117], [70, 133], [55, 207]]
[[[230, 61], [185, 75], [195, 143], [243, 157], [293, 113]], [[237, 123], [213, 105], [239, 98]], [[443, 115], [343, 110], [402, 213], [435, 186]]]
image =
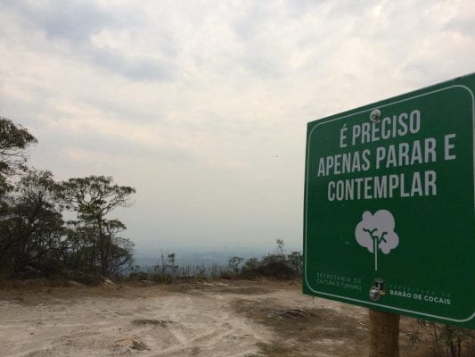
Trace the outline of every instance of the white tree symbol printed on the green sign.
[[363, 220], [355, 229], [356, 242], [374, 253], [374, 270], [378, 270], [378, 251], [389, 254], [399, 244], [399, 237], [394, 231], [394, 217], [387, 210], [380, 210], [371, 214], [363, 213]]

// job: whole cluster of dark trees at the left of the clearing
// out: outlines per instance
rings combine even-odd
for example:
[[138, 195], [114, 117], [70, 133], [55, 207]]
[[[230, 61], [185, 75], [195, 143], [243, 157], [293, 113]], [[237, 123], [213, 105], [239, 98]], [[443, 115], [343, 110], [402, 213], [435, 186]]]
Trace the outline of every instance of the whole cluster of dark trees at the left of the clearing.
[[[119, 237], [126, 226], [107, 215], [127, 207], [135, 189], [104, 176], [56, 182], [52, 172], [27, 166], [36, 143], [27, 129], [0, 117], [0, 275], [117, 276], [132, 264], [134, 245]], [[65, 211], [77, 220], [65, 221]]]

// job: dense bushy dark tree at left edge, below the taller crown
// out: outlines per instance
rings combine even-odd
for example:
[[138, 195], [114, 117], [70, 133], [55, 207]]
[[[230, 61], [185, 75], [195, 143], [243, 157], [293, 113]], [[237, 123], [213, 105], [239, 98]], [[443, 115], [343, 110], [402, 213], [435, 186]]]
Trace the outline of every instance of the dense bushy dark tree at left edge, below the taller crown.
[[7, 197], [0, 220], [2, 270], [21, 274], [55, 269], [54, 251], [64, 231], [61, 212], [53, 201], [54, 187], [51, 172], [27, 170]]

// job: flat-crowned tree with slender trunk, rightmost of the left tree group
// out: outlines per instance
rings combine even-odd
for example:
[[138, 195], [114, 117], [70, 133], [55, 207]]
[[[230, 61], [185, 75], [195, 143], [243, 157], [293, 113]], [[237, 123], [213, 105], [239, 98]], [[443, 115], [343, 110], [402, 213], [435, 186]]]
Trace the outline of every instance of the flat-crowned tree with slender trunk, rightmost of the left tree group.
[[[78, 218], [88, 224], [96, 225], [102, 275], [110, 271], [112, 237], [114, 229], [119, 228], [119, 220], [107, 220], [108, 213], [117, 207], [128, 207], [134, 187], [119, 186], [111, 177], [89, 176], [69, 179], [58, 186], [58, 199], [67, 209], [76, 211]], [[120, 223], [121, 228], [125, 226]]]

